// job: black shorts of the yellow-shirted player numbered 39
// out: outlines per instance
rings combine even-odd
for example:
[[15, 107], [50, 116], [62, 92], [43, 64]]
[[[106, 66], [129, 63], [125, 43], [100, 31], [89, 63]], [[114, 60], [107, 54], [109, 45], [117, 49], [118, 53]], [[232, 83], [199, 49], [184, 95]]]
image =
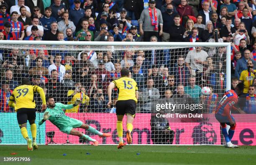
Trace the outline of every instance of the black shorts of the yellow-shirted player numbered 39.
[[17, 111], [18, 124], [22, 125], [27, 123], [27, 121], [36, 119], [36, 109], [35, 108], [20, 108]]

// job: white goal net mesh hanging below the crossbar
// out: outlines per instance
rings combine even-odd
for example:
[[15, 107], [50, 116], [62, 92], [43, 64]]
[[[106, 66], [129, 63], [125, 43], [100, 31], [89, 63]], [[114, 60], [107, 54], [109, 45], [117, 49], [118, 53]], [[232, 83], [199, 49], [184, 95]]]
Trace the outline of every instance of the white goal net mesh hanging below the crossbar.
[[[81, 105], [64, 110], [66, 115], [112, 136], [99, 138], [81, 128], [77, 130], [100, 144], [119, 143], [115, 115], [118, 89], [112, 91], [113, 105], [108, 108], [107, 87], [120, 78], [122, 67], [130, 70], [138, 85], [133, 144], [222, 144], [214, 112], [226, 89], [226, 47], [161, 47], [154, 43], [152, 46], [0, 45], [0, 58], [2, 144], [26, 143], [16, 113], [8, 107], [10, 92], [20, 85], [22, 77], [41, 86], [46, 96], [53, 96], [56, 102], [73, 104], [77, 98], [81, 99]], [[203, 96], [202, 87], [210, 87], [211, 94]], [[89, 143], [62, 133], [48, 120], [38, 125], [43, 117], [38, 93], [34, 94], [34, 100], [38, 143]], [[126, 116], [124, 139], [125, 119]]]

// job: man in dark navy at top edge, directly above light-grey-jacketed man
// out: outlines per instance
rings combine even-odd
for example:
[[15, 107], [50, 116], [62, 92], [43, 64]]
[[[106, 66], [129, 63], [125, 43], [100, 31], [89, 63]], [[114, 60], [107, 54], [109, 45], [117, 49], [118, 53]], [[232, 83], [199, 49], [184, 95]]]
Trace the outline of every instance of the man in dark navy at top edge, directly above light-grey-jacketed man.
[[[79, 4], [80, 5], [80, 4]], [[50, 6], [52, 9], [52, 16], [57, 20], [61, 20], [61, 15], [67, 9], [66, 6], [61, 4], [61, 0], [54, 0], [54, 3]]]

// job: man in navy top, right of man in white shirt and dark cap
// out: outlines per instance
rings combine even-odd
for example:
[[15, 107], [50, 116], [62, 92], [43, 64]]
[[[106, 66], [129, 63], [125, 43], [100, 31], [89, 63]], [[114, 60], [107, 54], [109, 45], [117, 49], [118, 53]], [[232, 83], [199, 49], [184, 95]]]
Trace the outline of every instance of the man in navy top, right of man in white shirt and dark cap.
[[40, 18], [40, 25], [43, 26], [44, 32], [51, 30], [51, 23], [57, 22], [57, 20], [51, 16], [51, 7], [46, 7], [44, 12], [44, 17]]

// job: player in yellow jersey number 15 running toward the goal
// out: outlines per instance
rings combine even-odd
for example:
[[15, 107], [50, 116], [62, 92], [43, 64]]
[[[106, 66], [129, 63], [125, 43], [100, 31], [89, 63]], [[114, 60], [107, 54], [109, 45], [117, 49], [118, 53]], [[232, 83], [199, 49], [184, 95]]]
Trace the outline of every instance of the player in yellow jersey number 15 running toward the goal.
[[119, 145], [118, 149], [123, 148], [123, 116], [126, 114], [126, 138], [127, 143], [132, 143], [131, 132], [133, 130], [133, 120], [136, 114], [136, 103], [138, 100], [138, 87], [135, 80], [129, 77], [129, 70], [126, 68], [121, 69], [121, 78], [114, 80], [108, 86], [108, 107], [112, 105], [111, 94], [112, 90], [118, 88], [118, 101], [115, 104], [117, 124], [116, 129], [118, 132]]

